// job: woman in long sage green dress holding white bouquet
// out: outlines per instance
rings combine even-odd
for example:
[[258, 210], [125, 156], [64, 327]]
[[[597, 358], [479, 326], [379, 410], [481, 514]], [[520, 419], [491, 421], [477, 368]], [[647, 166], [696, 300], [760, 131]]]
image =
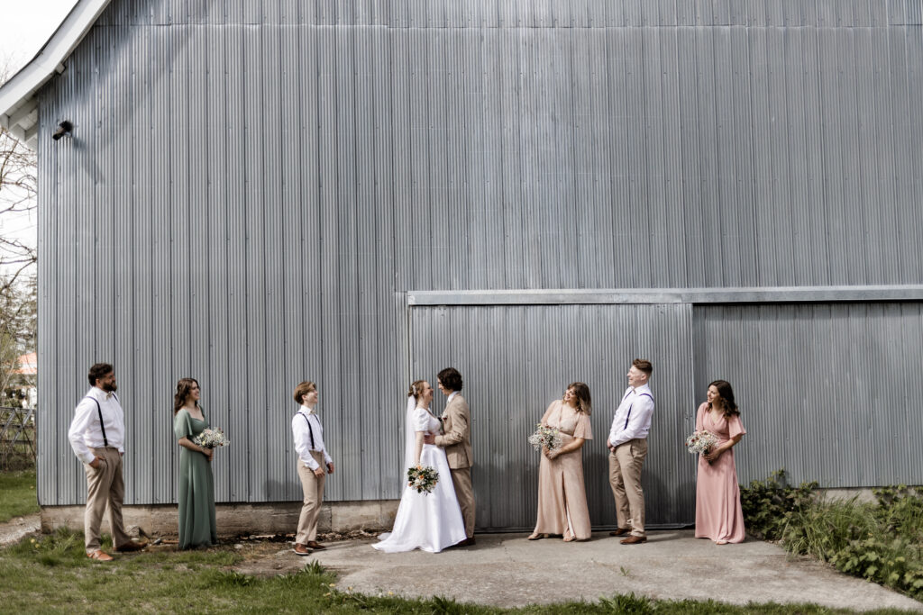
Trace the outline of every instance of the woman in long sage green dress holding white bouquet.
[[194, 378], [176, 383], [174, 396], [174, 435], [179, 450], [179, 548], [208, 547], [218, 543], [215, 525], [215, 486], [211, 478], [214, 450], [199, 446], [193, 439], [209, 427]]

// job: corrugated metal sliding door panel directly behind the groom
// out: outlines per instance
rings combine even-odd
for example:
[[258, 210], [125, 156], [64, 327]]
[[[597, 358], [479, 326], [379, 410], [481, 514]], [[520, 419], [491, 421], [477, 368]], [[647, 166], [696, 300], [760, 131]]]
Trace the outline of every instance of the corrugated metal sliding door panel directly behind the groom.
[[[682, 447], [695, 422], [691, 313], [689, 304], [412, 308], [414, 379], [434, 384], [453, 366], [465, 380], [477, 526], [535, 525], [539, 454], [526, 438], [575, 381], [593, 396], [593, 440], [583, 447], [590, 517], [615, 525], [605, 439], [631, 360], [641, 356], [653, 362], [656, 400], [643, 475], [647, 523], [693, 522], [695, 460]], [[433, 408], [441, 413], [445, 397], [437, 393]]]

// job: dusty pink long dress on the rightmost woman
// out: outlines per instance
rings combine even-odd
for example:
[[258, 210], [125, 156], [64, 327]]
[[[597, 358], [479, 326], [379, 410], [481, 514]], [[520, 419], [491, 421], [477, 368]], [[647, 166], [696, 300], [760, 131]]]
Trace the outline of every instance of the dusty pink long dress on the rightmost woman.
[[[712, 432], [718, 437], [719, 446], [737, 435], [747, 433], [739, 415], [713, 420], [707, 403], [699, 407], [695, 429], [697, 432]], [[737, 485], [733, 448], [722, 453], [711, 464], [699, 455], [695, 486], [695, 537], [711, 538], [715, 542], [744, 541], [744, 513], [740, 508], [740, 487]]]

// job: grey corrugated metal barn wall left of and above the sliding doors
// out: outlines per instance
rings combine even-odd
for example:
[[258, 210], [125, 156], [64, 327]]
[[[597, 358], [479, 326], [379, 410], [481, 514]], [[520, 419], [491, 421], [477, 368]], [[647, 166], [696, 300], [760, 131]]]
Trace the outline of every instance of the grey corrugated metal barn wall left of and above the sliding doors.
[[234, 441], [219, 500], [300, 497], [302, 378], [328, 498], [391, 498], [406, 290], [918, 283], [920, 22], [917, 0], [114, 0], [41, 94], [42, 503], [82, 501], [66, 428], [96, 360], [129, 503], [174, 501], [189, 374]]

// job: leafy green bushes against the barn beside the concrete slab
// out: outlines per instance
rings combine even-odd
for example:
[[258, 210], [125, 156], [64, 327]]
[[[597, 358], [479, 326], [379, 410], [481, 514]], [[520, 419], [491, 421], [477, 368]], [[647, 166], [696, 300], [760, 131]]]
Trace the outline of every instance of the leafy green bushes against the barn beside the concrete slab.
[[875, 503], [825, 502], [814, 497], [816, 482], [792, 488], [783, 481], [778, 470], [741, 490], [751, 534], [923, 598], [923, 490], [899, 485], [874, 490]]

